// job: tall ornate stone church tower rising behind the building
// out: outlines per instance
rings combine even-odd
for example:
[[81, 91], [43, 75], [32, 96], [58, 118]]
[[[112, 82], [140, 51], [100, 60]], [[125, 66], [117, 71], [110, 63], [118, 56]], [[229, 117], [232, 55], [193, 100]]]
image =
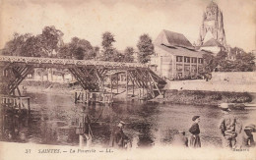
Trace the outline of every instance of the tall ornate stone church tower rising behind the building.
[[207, 6], [206, 11], [203, 14], [198, 45], [201, 46], [211, 38], [216, 39], [220, 44], [226, 47], [223, 12], [213, 1]]

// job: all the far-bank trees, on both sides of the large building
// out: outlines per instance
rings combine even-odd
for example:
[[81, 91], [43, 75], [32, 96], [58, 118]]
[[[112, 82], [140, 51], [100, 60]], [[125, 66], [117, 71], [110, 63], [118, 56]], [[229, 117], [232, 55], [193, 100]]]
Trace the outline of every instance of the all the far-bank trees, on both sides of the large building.
[[[117, 50], [113, 43], [114, 35], [106, 31], [102, 33], [101, 49], [93, 46], [90, 41], [73, 37], [70, 42], [63, 42], [64, 33], [55, 27], [44, 27], [37, 35], [31, 33], [14, 33], [1, 50], [2, 55], [25, 57], [49, 57], [77, 60], [101, 60], [111, 62], [134, 62], [135, 53], [139, 63], [150, 62], [155, 53], [152, 38], [144, 33], [137, 42], [137, 51], [133, 47], [126, 47], [123, 52]], [[211, 53], [204, 54], [204, 69], [207, 73], [220, 70], [223, 72], [250, 72], [255, 71], [255, 56], [252, 52], [246, 53], [243, 49], [234, 47], [230, 53], [235, 55], [233, 61], [226, 59], [227, 52], [221, 51], [217, 56]]]

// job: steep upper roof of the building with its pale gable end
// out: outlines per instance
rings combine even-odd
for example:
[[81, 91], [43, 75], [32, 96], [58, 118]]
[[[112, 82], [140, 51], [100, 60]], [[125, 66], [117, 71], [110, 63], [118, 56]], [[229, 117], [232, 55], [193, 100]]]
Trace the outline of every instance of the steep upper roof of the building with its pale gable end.
[[194, 49], [193, 45], [183, 34], [165, 29], [160, 32], [154, 43], [157, 45], [164, 44], [170, 47], [179, 46]]

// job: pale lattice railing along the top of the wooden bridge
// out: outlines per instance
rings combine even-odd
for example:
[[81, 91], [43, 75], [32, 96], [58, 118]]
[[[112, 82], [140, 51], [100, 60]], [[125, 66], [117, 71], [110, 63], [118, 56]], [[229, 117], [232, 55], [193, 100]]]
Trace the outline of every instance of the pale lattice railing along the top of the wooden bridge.
[[26, 63], [26, 64], [75, 65], [75, 66], [148, 68], [147, 65], [143, 65], [139, 63], [57, 59], [57, 58], [41, 58], [41, 57], [20, 57], [20, 56], [0, 56], [0, 62]]

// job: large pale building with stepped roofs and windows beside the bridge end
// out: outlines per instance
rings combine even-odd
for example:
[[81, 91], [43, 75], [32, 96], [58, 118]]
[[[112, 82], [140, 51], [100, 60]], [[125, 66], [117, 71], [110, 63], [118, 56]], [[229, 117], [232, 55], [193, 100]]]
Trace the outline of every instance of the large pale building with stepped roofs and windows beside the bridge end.
[[163, 29], [154, 41], [151, 67], [166, 79], [196, 78], [203, 72], [203, 51], [196, 51], [181, 33]]

